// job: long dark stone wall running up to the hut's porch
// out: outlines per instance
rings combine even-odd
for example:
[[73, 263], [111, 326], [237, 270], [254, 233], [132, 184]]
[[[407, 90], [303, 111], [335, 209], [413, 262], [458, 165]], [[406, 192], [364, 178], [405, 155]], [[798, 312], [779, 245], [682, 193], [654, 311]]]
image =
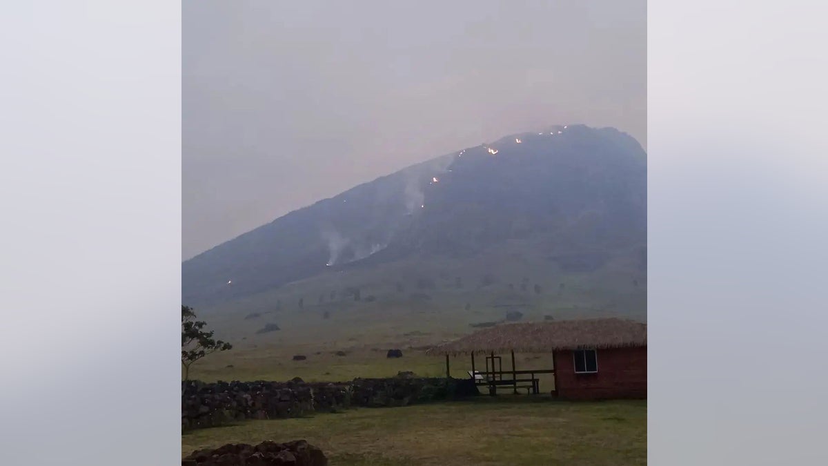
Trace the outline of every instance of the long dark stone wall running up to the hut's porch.
[[[182, 382], [181, 429], [201, 429], [248, 419], [301, 417], [351, 406], [405, 406], [453, 398], [461, 381], [397, 376], [350, 382]], [[476, 392], [476, 390], [475, 390]]]

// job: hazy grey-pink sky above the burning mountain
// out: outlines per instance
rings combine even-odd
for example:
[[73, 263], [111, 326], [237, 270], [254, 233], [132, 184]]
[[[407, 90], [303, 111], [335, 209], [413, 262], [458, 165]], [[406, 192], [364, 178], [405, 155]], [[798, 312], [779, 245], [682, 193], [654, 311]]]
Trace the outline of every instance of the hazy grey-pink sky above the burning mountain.
[[646, 0], [201, 0], [182, 34], [182, 259], [508, 133], [646, 147]]

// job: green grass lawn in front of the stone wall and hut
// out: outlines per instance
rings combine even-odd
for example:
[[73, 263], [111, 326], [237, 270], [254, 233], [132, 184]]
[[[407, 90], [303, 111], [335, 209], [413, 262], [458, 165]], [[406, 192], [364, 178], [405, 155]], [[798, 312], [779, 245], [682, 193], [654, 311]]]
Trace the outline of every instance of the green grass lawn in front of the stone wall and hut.
[[195, 430], [181, 450], [268, 439], [306, 439], [332, 466], [647, 464], [647, 402], [498, 396], [352, 409]]

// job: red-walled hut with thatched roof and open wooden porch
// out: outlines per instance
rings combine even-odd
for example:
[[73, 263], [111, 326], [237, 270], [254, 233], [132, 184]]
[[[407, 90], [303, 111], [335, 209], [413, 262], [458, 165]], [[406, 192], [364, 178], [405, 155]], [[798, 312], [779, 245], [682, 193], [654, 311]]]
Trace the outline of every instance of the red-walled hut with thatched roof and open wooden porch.
[[[551, 367], [515, 367], [515, 352], [551, 353]], [[646, 398], [647, 324], [620, 318], [593, 318], [543, 323], [505, 323], [431, 348], [432, 355], [469, 354], [470, 376], [478, 385], [513, 386], [536, 375], [554, 374], [554, 396], [567, 399]], [[503, 371], [496, 354], [510, 353], [511, 370]], [[485, 371], [476, 371], [474, 355], [484, 354]]]

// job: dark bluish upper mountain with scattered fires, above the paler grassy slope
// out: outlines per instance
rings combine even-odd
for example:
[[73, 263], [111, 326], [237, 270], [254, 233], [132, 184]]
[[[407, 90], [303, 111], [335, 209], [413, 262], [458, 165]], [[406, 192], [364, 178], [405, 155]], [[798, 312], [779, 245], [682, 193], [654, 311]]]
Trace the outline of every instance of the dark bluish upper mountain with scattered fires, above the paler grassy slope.
[[182, 297], [226, 303], [334, 270], [465, 260], [520, 238], [550, 254], [646, 248], [646, 164], [641, 145], [613, 128], [509, 134], [360, 183], [185, 260]]

